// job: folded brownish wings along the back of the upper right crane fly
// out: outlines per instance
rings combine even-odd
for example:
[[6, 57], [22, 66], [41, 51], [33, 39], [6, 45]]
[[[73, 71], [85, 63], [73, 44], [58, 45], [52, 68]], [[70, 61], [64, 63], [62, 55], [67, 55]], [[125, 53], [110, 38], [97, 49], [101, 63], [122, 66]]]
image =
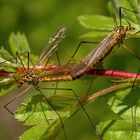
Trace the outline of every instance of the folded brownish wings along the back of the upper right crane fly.
[[105, 37], [93, 50], [91, 50], [81, 61], [80, 64], [76, 65], [71, 75], [73, 77], [80, 76], [89, 67], [96, 67], [99, 65], [105, 57], [111, 52], [113, 45], [111, 44], [112, 37], [109, 34]]

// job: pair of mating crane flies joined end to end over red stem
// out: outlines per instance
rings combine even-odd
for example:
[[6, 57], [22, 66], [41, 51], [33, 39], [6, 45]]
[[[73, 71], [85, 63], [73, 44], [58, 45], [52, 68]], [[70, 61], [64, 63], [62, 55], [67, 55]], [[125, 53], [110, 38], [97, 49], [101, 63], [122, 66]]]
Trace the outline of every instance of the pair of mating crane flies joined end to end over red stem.
[[[47, 65], [50, 57], [56, 52], [57, 46], [62, 42], [63, 38], [65, 37], [66, 27], [62, 26], [55, 34], [52, 36], [45, 46], [43, 52], [41, 53], [36, 66], [29, 66], [29, 53], [28, 53], [28, 65], [24, 66], [20, 55], [17, 53], [17, 58], [21, 63], [21, 67], [17, 69], [15, 74], [13, 75], [14, 80], [17, 82], [18, 87], [21, 87], [24, 83], [28, 83], [29, 85], [33, 85], [35, 89], [37, 89], [42, 96], [43, 93], [40, 90], [39, 83], [41, 82], [60, 82], [60, 81], [71, 81], [80, 78], [83, 76], [86, 71], [89, 69], [95, 69], [112, 51], [112, 49], [121, 43], [126, 38], [126, 33], [129, 31], [133, 31], [135, 28], [130, 24], [128, 26], [117, 26], [114, 30], [106, 36], [96, 48], [91, 50], [89, 54], [87, 54], [79, 64], [71, 64], [71, 65], [62, 65], [58, 67], [52, 67], [49, 70], [45, 70], [45, 66]], [[137, 34], [136, 32], [134, 34]], [[74, 53], [75, 54], [75, 53]], [[73, 56], [72, 56], [73, 57]], [[43, 66], [42, 66], [43, 65]], [[42, 72], [38, 72], [38, 66], [41, 66]], [[18, 74], [18, 71], [21, 74]], [[47, 89], [47, 88], [46, 88]], [[74, 95], [77, 97], [75, 92]], [[45, 97], [45, 96], [44, 96]], [[45, 98], [47, 103], [51, 106], [51, 103]], [[86, 113], [89, 121], [93, 125], [95, 129], [94, 123], [88, 116], [88, 113], [85, 111], [84, 106], [80, 102], [79, 98], [77, 97], [79, 104], [81, 105], [82, 109]], [[15, 99], [11, 100], [8, 104], [5, 105], [5, 108], [9, 111], [7, 106], [13, 102]], [[52, 107], [52, 106], [51, 106]], [[57, 113], [54, 107], [52, 109]], [[10, 111], [9, 111], [10, 112]], [[63, 121], [59, 113], [57, 113], [59, 119], [62, 123], [62, 127], [64, 128]], [[65, 133], [65, 132], [64, 132]], [[64, 134], [65, 135], [65, 134]], [[100, 135], [96, 133], [96, 135], [101, 139]]]

